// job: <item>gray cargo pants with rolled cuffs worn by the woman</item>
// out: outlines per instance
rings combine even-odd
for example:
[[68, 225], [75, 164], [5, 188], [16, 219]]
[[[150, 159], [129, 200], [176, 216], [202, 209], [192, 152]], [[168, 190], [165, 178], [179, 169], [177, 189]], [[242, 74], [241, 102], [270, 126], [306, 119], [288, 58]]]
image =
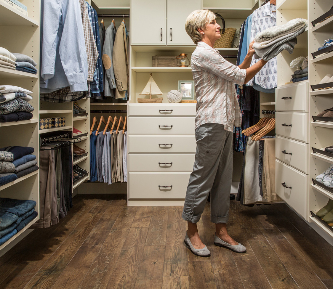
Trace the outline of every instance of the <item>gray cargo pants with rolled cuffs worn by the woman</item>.
[[210, 220], [228, 221], [232, 181], [232, 132], [206, 123], [195, 130], [196, 152], [186, 190], [182, 218], [197, 223], [210, 192]]

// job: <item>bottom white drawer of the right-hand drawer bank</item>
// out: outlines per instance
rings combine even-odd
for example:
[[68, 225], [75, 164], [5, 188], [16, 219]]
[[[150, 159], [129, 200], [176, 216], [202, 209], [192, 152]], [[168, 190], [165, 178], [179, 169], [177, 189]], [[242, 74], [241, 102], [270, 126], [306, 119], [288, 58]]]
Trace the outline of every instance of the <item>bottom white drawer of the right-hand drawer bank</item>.
[[[286, 188], [282, 185], [285, 184]], [[307, 218], [306, 195], [307, 175], [282, 163], [275, 162], [275, 191], [288, 205], [298, 212], [304, 219]]]

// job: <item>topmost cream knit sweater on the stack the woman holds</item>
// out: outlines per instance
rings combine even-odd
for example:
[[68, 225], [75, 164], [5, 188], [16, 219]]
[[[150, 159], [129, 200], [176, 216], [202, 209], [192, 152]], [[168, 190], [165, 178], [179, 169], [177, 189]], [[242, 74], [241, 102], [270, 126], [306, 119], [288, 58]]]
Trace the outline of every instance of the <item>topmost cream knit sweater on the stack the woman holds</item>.
[[267, 41], [267, 40], [274, 38], [277, 35], [287, 33], [289, 31], [292, 31], [297, 28], [300, 28], [300, 27], [306, 28], [308, 26], [307, 23], [308, 23], [307, 19], [303, 19], [303, 18], [292, 19], [292, 20], [288, 21], [286, 24], [269, 27], [269, 28], [263, 30], [262, 32], [258, 33], [254, 37], [254, 41], [255, 42]]

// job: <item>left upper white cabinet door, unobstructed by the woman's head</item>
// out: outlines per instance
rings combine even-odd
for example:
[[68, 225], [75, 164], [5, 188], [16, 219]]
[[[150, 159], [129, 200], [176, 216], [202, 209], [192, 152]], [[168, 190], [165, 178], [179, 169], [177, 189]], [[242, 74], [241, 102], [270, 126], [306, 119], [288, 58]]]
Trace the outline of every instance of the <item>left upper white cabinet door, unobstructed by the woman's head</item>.
[[131, 4], [132, 45], [165, 45], [166, 1], [132, 0]]

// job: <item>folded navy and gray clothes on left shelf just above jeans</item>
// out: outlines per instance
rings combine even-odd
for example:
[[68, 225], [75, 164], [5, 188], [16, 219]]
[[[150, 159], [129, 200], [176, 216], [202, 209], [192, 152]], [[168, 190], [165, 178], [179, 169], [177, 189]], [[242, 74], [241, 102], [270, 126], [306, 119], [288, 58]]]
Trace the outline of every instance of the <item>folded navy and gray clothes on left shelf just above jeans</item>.
[[33, 147], [7, 146], [0, 148], [0, 186], [37, 170]]

